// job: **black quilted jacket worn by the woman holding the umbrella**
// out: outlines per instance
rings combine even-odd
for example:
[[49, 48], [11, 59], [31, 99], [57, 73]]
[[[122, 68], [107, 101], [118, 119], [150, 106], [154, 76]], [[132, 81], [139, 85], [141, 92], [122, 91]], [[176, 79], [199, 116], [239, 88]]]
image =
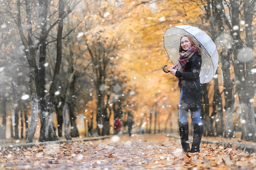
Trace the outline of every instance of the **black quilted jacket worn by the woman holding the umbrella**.
[[196, 52], [186, 64], [185, 71], [176, 71], [175, 76], [182, 83], [181, 107], [192, 110], [202, 106], [202, 86], [199, 79], [201, 63], [201, 56]]

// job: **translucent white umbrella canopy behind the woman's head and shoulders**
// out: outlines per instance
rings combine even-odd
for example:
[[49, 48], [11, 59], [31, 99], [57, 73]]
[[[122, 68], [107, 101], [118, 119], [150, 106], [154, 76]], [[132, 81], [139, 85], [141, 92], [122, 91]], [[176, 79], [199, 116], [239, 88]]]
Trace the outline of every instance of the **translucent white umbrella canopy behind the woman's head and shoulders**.
[[210, 82], [218, 67], [218, 51], [213, 40], [207, 33], [195, 26], [173, 26], [172, 28], [167, 29], [164, 34], [165, 50], [173, 64], [177, 64], [179, 57], [180, 38], [186, 34], [192, 35], [201, 47], [202, 64], [199, 75], [200, 82], [202, 84]]

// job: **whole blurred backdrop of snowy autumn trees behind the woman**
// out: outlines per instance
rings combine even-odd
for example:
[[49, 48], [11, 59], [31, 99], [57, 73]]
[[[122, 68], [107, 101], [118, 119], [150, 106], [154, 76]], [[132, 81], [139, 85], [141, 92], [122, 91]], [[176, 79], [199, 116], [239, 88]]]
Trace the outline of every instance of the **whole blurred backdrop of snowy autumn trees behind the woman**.
[[256, 140], [255, 0], [1, 3], [1, 139], [109, 135], [128, 115], [134, 130], [175, 132], [179, 89], [162, 71], [172, 64], [163, 35], [189, 24], [214, 40], [223, 72], [204, 84], [204, 135]]

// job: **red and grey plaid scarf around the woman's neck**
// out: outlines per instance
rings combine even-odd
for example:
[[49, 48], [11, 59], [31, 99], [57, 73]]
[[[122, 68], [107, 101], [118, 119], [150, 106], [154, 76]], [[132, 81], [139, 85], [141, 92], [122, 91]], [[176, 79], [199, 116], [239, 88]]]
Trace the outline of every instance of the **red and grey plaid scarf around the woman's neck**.
[[186, 64], [189, 61], [189, 59], [192, 57], [192, 55], [196, 52], [195, 46], [191, 46], [188, 51], [182, 51], [180, 52], [180, 57], [178, 58], [178, 71], [185, 71]]

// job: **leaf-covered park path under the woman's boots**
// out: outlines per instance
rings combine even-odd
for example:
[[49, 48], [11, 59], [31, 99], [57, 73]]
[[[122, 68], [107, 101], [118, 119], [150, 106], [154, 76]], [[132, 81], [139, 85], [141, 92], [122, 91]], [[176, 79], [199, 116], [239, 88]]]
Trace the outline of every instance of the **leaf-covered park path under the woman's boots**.
[[0, 150], [1, 170], [251, 170], [256, 155], [215, 144], [181, 153], [180, 139], [164, 134], [111, 136], [94, 141]]

